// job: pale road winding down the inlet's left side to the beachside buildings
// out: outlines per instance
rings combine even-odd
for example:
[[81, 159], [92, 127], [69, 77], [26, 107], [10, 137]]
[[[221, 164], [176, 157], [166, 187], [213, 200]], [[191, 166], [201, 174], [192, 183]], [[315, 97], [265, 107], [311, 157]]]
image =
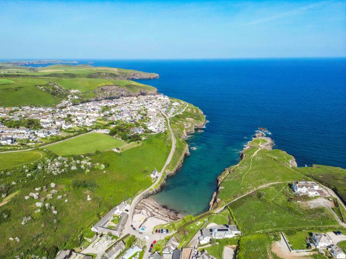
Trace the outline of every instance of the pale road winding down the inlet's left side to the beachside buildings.
[[[168, 155], [168, 158], [166, 160], [165, 165], [163, 166], [159, 177], [155, 180], [155, 182], [147, 189], [145, 189], [144, 191], [142, 191], [141, 193], [139, 193], [136, 197], [133, 198], [131, 204], [130, 204], [130, 208], [129, 210], [129, 218], [124, 226], [123, 229], [123, 234], [120, 237], [125, 236], [126, 234], [130, 234], [130, 235], [134, 235], [137, 238], [144, 238], [144, 236], [148, 236], [148, 239], [146, 240], [146, 250], [144, 252], [144, 256], [143, 259], [147, 259], [149, 257], [149, 248], [150, 248], [150, 244], [154, 241], [154, 240], [159, 240], [159, 239], [163, 239], [166, 236], [170, 236], [173, 233], [169, 233], [169, 234], [152, 234], [152, 233], [143, 233], [143, 234], [139, 234], [137, 231], [133, 230], [131, 227], [131, 223], [132, 223], [132, 217], [133, 217], [133, 213], [134, 213], [134, 208], [136, 207], [136, 205], [138, 204], [138, 202], [140, 202], [140, 200], [145, 196], [145, 194], [147, 194], [147, 192], [149, 192], [150, 190], [152, 190], [155, 185], [157, 183], [160, 182], [160, 180], [162, 179], [164, 172], [166, 170], [166, 167], [171, 163], [172, 158], [173, 158], [173, 154], [175, 151], [175, 144], [176, 144], [176, 139], [173, 133], [173, 130], [171, 128], [171, 123], [170, 123], [170, 118], [167, 116], [167, 114], [165, 112], [163, 112], [162, 110], [160, 110], [160, 112], [162, 113], [162, 115], [167, 119], [167, 126], [168, 129], [170, 130], [171, 133], [171, 139], [172, 139], [172, 148], [171, 148], [171, 152]], [[82, 251], [82, 253], [93, 253], [93, 254], [97, 254], [96, 259], [101, 258], [101, 256], [104, 254], [104, 249], [97, 250], [95, 249], [93, 246], [94, 244], [97, 242], [97, 240], [95, 240], [92, 244], [90, 244], [84, 251]]]

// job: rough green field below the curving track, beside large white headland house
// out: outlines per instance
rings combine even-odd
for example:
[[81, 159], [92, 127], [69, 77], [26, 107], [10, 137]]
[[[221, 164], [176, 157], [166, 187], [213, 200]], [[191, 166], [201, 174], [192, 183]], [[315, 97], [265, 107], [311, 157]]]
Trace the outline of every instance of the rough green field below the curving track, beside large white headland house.
[[307, 209], [301, 203], [289, 201], [289, 197], [293, 195], [287, 184], [278, 184], [245, 196], [231, 203], [229, 207], [244, 234], [314, 227], [316, 224], [338, 225], [328, 209]]

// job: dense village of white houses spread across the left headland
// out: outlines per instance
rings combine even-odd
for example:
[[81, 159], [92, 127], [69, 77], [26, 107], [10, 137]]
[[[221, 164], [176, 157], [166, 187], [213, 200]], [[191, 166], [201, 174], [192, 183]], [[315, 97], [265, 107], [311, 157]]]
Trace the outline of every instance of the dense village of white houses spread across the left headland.
[[[0, 117], [10, 120], [38, 119], [43, 129], [31, 130], [24, 127], [12, 129], [0, 124], [1, 144], [13, 144], [16, 139], [36, 141], [41, 137], [57, 135], [62, 130], [74, 127], [91, 127], [99, 119], [127, 123], [141, 122], [142, 127], [132, 129], [132, 133], [144, 133], [146, 129], [159, 133], [166, 129], [162, 111], [176, 113], [178, 102], [172, 102], [168, 96], [141, 95], [122, 97], [112, 100], [101, 100], [69, 104], [66, 107], [0, 107]], [[146, 128], [146, 129], [145, 129]]]

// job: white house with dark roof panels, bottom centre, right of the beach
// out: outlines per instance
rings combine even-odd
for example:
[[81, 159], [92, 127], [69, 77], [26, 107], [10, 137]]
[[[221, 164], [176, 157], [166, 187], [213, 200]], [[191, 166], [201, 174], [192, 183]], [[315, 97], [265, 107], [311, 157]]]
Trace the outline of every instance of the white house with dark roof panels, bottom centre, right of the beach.
[[204, 228], [201, 230], [201, 236], [198, 238], [200, 244], [207, 244], [211, 239], [231, 238], [240, 235], [236, 225], [216, 225], [212, 228]]

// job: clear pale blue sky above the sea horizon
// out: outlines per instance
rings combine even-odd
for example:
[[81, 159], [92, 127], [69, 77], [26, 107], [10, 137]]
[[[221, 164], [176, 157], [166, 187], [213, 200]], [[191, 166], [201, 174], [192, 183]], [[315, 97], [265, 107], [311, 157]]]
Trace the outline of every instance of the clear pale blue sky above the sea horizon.
[[346, 56], [346, 1], [0, 0], [0, 59]]

